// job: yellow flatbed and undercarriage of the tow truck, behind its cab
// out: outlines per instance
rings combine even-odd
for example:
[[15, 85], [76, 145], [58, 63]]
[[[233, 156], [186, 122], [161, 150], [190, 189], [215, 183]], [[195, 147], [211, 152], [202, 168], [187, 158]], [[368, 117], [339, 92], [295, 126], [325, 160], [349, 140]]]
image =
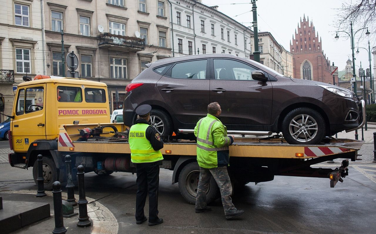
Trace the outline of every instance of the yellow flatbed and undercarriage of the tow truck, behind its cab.
[[[119, 132], [127, 131], [123, 124], [111, 124]], [[81, 141], [77, 129], [95, 128], [101, 125], [64, 125], [60, 128], [58, 151], [62, 155], [74, 155], [74, 166], [84, 165], [86, 171], [108, 175], [113, 171], [135, 172], [130, 162], [129, 143], [126, 138], [106, 141]], [[103, 128], [103, 136], [111, 139], [113, 128]], [[249, 138], [236, 137], [229, 146], [230, 178], [234, 186], [244, 186], [249, 182], [265, 182], [275, 175], [329, 178], [331, 187], [348, 175], [348, 159], [356, 160], [357, 151], [363, 141], [350, 139], [327, 139], [325, 145], [289, 145], [275, 137]], [[180, 193], [190, 203], [196, 201], [199, 166], [196, 161], [196, 142], [189, 140], [166, 141], [161, 149], [164, 156], [161, 168], [173, 171], [172, 184], [179, 183]], [[315, 168], [311, 165], [333, 159], [343, 160], [336, 169]], [[102, 169], [98, 169], [99, 167]], [[103, 166], [102, 166], [103, 165]], [[207, 199], [217, 198], [215, 181], [211, 181]]]

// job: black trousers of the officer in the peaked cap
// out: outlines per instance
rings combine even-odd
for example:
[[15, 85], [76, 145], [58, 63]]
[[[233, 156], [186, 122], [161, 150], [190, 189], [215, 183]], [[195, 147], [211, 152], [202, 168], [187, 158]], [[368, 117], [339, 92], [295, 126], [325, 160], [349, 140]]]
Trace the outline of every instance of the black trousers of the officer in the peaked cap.
[[149, 222], [157, 222], [159, 166], [156, 163], [137, 163], [136, 174], [136, 221], [144, 219], [144, 206], [149, 193]]

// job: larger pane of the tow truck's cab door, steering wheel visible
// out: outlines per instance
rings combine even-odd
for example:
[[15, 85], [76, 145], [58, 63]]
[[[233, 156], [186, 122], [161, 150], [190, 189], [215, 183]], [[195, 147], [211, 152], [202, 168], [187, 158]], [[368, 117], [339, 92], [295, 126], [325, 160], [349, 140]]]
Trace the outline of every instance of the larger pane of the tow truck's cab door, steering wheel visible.
[[44, 103], [44, 88], [42, 86], [27, 88], [24, 103], [25, 114], [42, 110]]

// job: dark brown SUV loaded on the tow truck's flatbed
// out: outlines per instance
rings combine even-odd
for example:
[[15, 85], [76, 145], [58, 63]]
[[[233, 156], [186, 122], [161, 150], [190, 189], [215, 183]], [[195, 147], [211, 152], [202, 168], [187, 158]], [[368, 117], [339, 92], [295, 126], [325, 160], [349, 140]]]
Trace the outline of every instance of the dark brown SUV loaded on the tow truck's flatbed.
[[212, 102], [220, 104], [227, 130], [282, 132], [290, 144], [318, 144], [362, 122], [352, 91], [285, 77], [232, 54], [173, 57], [146, 66], [127, 85], [124, 124], [133, 124], [139, 105], [150, 104], [162, 135], [194, 129]]

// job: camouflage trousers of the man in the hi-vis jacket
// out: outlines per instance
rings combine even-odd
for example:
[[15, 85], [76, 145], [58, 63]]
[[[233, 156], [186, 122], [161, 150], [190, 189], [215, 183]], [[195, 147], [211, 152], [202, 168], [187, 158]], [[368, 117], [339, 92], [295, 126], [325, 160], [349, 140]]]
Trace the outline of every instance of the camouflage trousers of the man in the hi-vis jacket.
[[224, 214], [226, 215], [232, 213], [236, 210], [236, 208], [232, 204], [232, 186], [226, 166], [210, 169], [200, 167], [200, 179], [199, 185], [197, 186], [196, 208], [202, 209], [206, 207], [206, 191], [208, 191], [211, 177], [214, 178], [221, 192]]

